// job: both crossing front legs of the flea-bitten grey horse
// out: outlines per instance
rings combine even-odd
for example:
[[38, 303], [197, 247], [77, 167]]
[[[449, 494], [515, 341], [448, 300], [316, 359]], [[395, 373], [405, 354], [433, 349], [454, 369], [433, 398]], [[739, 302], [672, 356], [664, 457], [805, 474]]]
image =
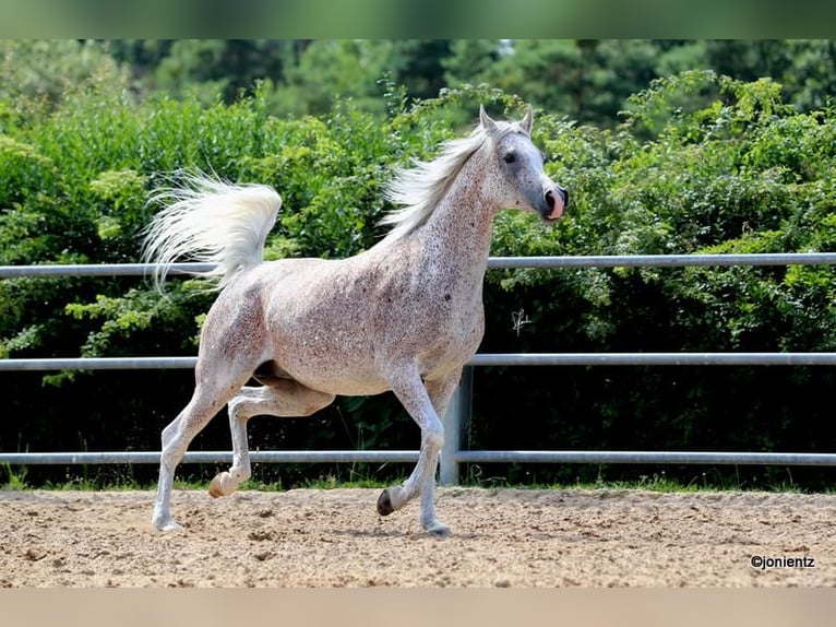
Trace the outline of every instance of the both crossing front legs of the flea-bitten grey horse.
[[421, 449], [409, 477], [402, 485], [384, 489], [380, 495], [378, 512], [382, 516], [392, 513], [420, 494], [421, 527], [439, 535], [450, 532], [450, 528], [435, 517], [435, 471], [439, 452], [444, 445], [444, 427], [440, 416], [446, 411], [461, 376], [459, 368], [440, 380], [427, 381], [426, 386], [417, 375], [393, 381], [393, 391], [421, 428]]

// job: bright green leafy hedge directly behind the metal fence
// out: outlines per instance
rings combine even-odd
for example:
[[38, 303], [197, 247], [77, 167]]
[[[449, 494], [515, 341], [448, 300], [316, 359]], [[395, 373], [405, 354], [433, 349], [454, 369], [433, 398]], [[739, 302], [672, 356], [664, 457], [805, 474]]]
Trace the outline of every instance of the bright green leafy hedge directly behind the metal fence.
[[[474, 46], [450, 48], [461, 55], [458, 64], [443, 63], [451, 76], [478, 66]], [[547, 47], [549, 63], [586, 68], [578, 85], [592, 92], [612, 78], [584, 63], [629, 51], [638, 59], [633, 80], [643, 80], [648, 44], [620, 46], [628, 44], [530, 43], [517, 50], [530, 54], [518, 71], [530, 78], [547, 67], [535, 55]], [[385, 43], [317, 47], [343, 62], [354, 47], [377, 68], [392, 52]], [[697, 57], [708, 48], [686, 51]], [[511, 68], [509, 52], [497, 50], [495, 68]], [[295, 62], [294, 55], [283, 58]], [[507, 85], [522, 84], [512, 79], [523, 80], [509, 74]], [[381, 186], [393, 167], [431, 157], [441, 141], [466, 131], [480, 103], [494, 116], [518, 117], [526, 100], [515, 95], [526, 93], [522, 87], [475, 80], [416, 102], [397, 83], [375, 79], [362, 97], [318, 100], [327, 109], [322, 115], [276, 116], [272, 81], [229, 102], [177, 90], [177, 97], [136, 97], [121, 78], [91, 79], [27, 115], [21, 103], [29, 95], [0, 97], [0, 262], [138, 261], [141, 229], [157, 210], [148, 204], [152, 191], [182, 168], [282, 193], [268, 258], [355, 255], [381, 236], [377, 224], [390, 209]], [[304, 81], [297, 81], [301, 93]], [[712, 71], [650, 81], [628, 100], [620, 122], [597, 126], [566, 115], [582, 109], [536, 103], [535, 140], [550, 176], [570, 190], [568, 216], [545, 226], [504, 212], [494, 255], [836, 250], [832, 106], [799, 109], [776, 81]], [[619, 102], [587, 99], [583, 110], [602, 116]], [[212, 298], [176, 279], [165, 296], [131, 277], [3, 280], [0, 356], [191, 355]], [[483, 352], [836, 350], [832, 267], [491, 271], [485, 299]], [[80, 440], [93, 450], [154, 448], [193, 385], [189, 372], [155, 371], [8, 379], [20, 392], [9, 399], [9, 415], [27, 419], [3, 423], [5, 450], [73, 449]], [[824, 399], [833, 386], [825, 368], [482, 368], [470, 443], [829, 450], [836, 430]], [[84, 407], [83, 418], [68, 415], [74, 406]], [[228, 446], [218, 423], [198, 448]], [[410, 448], [418, 437], [390, 395], [341, 400], [312, 421], [258, 423], [251, 441], [262, 448]], [[37, 472], [27, 482], [37, 483]], [[290, 485], [331, 471], [275, 472]], [[518, 476], [509, 478], [526, 472], [512, 469]], [[541, 469], [538, 477], [574, 481], [574, 472]]]

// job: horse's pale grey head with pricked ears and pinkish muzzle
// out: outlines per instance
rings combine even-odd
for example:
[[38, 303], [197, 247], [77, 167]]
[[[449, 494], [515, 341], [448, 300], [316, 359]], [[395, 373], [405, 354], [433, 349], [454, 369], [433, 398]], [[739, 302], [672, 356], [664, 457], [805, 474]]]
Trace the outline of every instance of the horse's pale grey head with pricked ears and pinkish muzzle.
[[552, 222], [563, 215], [569, 205], [569, 192], [552, 181], [544, 170], [542, 153], [532, 143], [532, 108], [518, 122], [495, 122], [479, 109], [482, 130], [493, 139], [493, 168], [502, 185], [493, 191], [503, 206], [537, 212]]

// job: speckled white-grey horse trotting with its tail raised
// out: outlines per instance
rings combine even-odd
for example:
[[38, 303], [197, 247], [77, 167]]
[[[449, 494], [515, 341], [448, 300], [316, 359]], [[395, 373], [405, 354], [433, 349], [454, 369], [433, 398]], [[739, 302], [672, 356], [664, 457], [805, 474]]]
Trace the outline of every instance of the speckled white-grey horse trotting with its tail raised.
[[[392, 390], [421, 429], [418, 462], [378, 499], [382, 516], [421, 496], [420, 523], [446, 534], [435, 518], [434, 484], [447, 402], [481, 341], [482, 282], [491, 222], [503, 208], [563, 215], [569, 197], [549, 179], [532, 143], [530, 107], [518, 122], [479, 110], [466, 138], [440, 156], [396, 173], [387, 199], [402, 205], [383, 222], [387, 235], [343, 260], [263, 261], [282, 205], [260, 185], [206, 177], [157, 194], [169, 202], [146, 229], [145, 259], [160, 265], [189, 257], [216, 264], [219, 294], [201, 332], [194, 393], [163, 430], [153, 524], [171, 516], [174, 472], [194, 436], [228, 404], [232, 466], [210, 485], [229, 495], [250, 476], [247, 421], [309, 416], [336, 394]], [[255, 379], [260, 386], [246, 386]]]

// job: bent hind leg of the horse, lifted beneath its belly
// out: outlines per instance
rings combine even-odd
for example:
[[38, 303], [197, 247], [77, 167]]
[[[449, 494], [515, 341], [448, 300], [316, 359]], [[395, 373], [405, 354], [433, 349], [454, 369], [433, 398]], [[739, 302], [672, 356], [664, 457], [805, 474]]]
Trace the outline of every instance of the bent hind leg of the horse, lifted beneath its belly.
[[333, 401], [333, 394], [318, 392], [290, 379], [271, 379], [270, 383], [263, 387], [242, 388], [238, 395], [229, 401], [232, 466], [212, 480], [210, 495], [219, 497], [232, 494], [242, 482], [250, 478], [247, 421], [252, 416], [310, 416]]

